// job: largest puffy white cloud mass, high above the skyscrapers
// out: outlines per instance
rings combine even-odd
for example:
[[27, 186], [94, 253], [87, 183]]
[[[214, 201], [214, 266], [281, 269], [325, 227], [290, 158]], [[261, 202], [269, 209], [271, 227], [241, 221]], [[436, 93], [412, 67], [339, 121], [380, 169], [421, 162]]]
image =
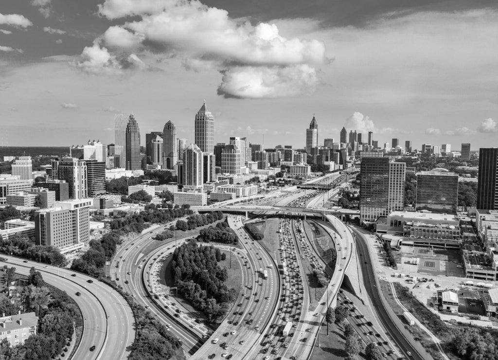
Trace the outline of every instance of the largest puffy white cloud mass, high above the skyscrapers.
[[[179, 58], [187, 69], [218, 70], [219, 95], [256, 99], [312, 92], [314, 66], [328, 61], [321, 41], [287, 39], [275, 24], [232, 19], [197, 0], [105, 0], [99, 14], [138, 18], [109, 27], [85, 48], [79, 67], [90, 73], [99, 73], [99, 65], [100, 73], [148, 68], [136, 54], [161, 53]], [[97, 53], [106, 61], [92, 61]]]

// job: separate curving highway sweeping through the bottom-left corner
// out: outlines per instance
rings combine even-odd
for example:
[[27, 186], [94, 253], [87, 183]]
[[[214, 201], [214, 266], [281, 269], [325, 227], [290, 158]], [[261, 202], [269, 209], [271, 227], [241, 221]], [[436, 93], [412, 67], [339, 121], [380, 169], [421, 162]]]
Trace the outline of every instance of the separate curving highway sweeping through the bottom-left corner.
[[[95, 278], [66, 268], [24, 261], [10, 257], [8, 263], [2, 262], [1, 265], [14, 266], [16, 272], [22, 275], [29, 274], [29, 269], [34, 266], [41, 272], [43, 280], [66, 291], [80, 307], [84, 329], [74, 359], [119, 360], [128, 357], [130, 352], [127, 348], [135, 339], [134, 318], [128, 303], [116, 290]], [[93, 280], [93, 283], [87, 280]], [[81, 296], [77, 296], [77, 292]], [[96, 349], [90, 352], [93, 345]]]

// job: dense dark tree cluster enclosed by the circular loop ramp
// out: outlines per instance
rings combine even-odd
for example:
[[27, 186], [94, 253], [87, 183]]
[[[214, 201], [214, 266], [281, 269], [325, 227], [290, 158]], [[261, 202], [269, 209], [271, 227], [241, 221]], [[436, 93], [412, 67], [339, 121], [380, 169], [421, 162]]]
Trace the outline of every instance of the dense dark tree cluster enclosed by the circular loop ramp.
[[204, 311], [209, 321], [217, 321], [228, 311], [228, 302], [235, 297], [224, 282], [227, 268], [221, 268], [221, 251], [214, 246], [198, 245], [189, 241], [177, 247], [173, 254], [172, 274], [178, 290]]

